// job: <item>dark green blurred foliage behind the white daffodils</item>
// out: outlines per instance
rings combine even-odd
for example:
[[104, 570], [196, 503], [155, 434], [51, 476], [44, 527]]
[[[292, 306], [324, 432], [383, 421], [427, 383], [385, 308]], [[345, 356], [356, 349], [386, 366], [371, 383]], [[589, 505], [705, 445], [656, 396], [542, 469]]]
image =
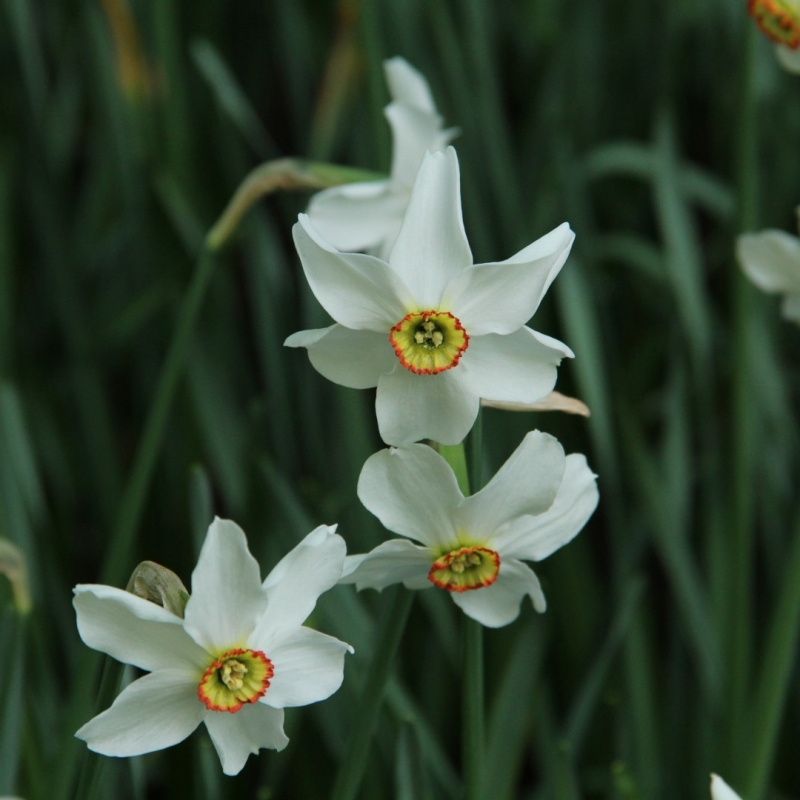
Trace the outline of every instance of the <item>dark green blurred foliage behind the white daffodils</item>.
[[[557, 388], [592, 416], [487, 410], [485, 472], [540, 428], [601, 502], [537, 568], [547, 613], [486, 631], [486, 798], [706, 798], [711, 770], [800, 797], [800, 336], [734, 258], [742, 230], [796, 232], [800, 78], [743, 0], [2, 1], [0, 537], [32, 611], [0, 581], [0, 794], [84, 791], [103, 660], [76, 583], [147, 558], [188, 584], [213, 514], [265, 573], [323, 522], [350, 552], [386, 535], [355, 494], [374, 394], [282, 346], [326, 324], [291, 242], [308, 193], [214, 259], [164, 435], [143, 432], [209, 227], [264, 161], [388, 171], [395, 55], [461, 129], [476, 262], [577, 233], [533, 324], [575, 351]], [[201, 729], [106, 760], [92, 796], [326, 797], [385, 600], [322, 599], [311, 622], [356, 656], [287, 714], [286, 751], [225, 778]], [[460, 797], [460, 621], [416, 598], [362, 798]]]

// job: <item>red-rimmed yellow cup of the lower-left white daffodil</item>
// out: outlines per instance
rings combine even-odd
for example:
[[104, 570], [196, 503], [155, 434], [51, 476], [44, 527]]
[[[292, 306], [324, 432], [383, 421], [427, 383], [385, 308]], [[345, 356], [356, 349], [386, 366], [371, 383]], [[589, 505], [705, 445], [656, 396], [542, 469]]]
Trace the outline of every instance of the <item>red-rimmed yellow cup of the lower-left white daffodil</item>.
[[229, 650], [203, 673], [197, 696], [210, 711], [236, 713], [269, 688], [275, 670], [260, 650]]

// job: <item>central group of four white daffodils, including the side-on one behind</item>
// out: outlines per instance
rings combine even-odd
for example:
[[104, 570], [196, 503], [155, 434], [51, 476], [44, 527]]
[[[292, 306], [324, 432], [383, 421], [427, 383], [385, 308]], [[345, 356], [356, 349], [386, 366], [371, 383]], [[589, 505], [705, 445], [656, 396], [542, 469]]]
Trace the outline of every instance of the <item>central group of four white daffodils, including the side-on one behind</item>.
[[507, 625], [525, 596], [545, 610], [539, 580], [524, 562], [569, 542], [597, 505], [586, 459], [565, 455], [548, 434], [525, 436], [469, 497], [436, 450], [437, 443], [461, 444], [481, 400], [530, 405], [552, 391], [559, 363], [573, 353], [527, 323], [574, 234], [564, 223], [511, 258], [474, 264], [458, 160], [447, 147], [453, 131], [443, 130], [416, 70], [393, 59], [386, 73], [391, 176], [322, 192], [300, 215], [300, 261], [335, 322], [286, 344], [305, 347], [336, 383], [377, 387], [380, 434], [395, 447], [367, 460], [358, 496], [407, 538], [346, 558], [344, 540], [322, 526], [262, 581], [244, 533], [217, 519], [191, 594], [152, 563], [132, 580], [141, 596], [78, 586], [84, 642], [149, 672], [78, 731], [99, 753], [169, 747], [203, 723], [223, 771], [236, 774], [251, 753], [286, 746], [284, 708], [323, 700], [342, 682], [352, 648], [303, 626], [322, 592], [337, 582], [435, 587], [478, 622]]

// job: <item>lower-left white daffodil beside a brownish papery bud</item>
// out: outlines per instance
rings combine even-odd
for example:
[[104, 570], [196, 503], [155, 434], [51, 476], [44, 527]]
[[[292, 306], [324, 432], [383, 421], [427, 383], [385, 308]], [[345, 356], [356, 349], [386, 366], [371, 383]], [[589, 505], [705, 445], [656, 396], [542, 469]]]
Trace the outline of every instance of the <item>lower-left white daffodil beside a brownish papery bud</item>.
[[283, 709], [333, 694], [352, 652], [302, 625], [342, 573], [346, 547], [334, 531], [312, 531], [262, 583], [241, 528], [214, 520], [183, 619], [112, 586], [77, 586], [83, 641], [150, 674], [75, 735], [103, 755], [136, 756], [204, 722], [226, 775], [262, 747], [286, 747]]

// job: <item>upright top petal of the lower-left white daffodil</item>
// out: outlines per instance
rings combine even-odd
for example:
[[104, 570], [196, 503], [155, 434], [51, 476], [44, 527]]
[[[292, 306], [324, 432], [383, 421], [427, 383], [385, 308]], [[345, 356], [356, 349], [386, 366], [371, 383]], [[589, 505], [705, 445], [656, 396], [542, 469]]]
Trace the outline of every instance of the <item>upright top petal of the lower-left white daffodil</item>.
[[266, 603], [261, 570], [247, 549], [244, 531], [217, 517], [192, 573], [186, 630], [211, 652], [228, 649], [247, 638]]

